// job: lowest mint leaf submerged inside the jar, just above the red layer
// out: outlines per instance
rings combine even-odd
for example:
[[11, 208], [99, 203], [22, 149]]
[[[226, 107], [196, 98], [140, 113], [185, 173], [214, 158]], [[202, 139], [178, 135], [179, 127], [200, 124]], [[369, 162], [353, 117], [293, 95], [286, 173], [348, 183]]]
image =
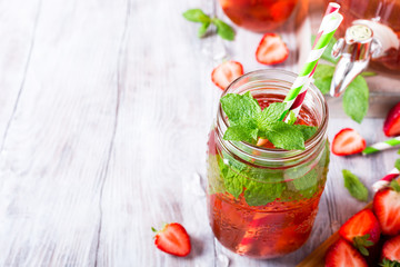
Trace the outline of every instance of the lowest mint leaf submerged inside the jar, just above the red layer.
[[279, 198], [286, 186], [280, 182], [267, 184], [250, 180], [246, 188], [246, 202], [249, 206], [263, 206]]

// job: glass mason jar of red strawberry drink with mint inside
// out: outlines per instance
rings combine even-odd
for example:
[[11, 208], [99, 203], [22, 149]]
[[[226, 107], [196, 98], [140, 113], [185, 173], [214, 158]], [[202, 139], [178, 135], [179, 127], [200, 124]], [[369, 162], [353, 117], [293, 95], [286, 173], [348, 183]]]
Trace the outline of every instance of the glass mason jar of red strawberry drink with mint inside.
[[[253, 71], [233, 81], [222, 96], [250, 91], [263, 107], [282, 101], [296, 77], [283, 70]], [[327, 180], [328, 120], [327, 102], [311, 85], [296, 123], [318, 130], [304, 150], [288, 151], [223, 140], [229, 122], [219, 106], [208, 141], [207, 199], [212, 231], [224, 247], [273, 258], [306, 243]]]

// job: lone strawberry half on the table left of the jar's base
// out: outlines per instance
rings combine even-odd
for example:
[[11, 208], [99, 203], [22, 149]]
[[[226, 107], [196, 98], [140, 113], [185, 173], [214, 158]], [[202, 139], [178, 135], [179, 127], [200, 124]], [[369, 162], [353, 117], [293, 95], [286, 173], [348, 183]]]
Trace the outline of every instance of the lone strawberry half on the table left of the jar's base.
[[162, 230], [156, 231], [154, 244], [160, 250], [174, 256], [184, 257], [190, 253], [190, 238], [188, 233], [178, 222], [167, 224]]

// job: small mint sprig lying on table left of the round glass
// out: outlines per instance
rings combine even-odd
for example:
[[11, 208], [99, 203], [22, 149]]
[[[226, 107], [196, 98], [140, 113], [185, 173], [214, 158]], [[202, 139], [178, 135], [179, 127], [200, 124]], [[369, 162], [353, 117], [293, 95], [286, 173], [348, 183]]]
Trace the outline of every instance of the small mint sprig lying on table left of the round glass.
[[224, 40], [232, 41], [234, 39], [234, 30], [232, 27], [223, 22], [218, 18], [210, 18], [201, 9], [189, 9], [183, 12], [183, 18], [191, 22], [199, 22], [201, 23], [198, 30], [198, 37], [202, 38], [206, 36], [208, 28], [210, 24], [216, 26], [217, 33]]

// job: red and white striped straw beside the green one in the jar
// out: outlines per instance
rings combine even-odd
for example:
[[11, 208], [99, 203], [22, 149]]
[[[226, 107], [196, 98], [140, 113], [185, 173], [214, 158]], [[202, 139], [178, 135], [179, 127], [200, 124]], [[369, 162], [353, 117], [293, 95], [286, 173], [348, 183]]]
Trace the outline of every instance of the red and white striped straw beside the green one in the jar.
[[[320, 28], [318, 30], [318, 33], [316, 36], [316, 40], [312, 44], [312, 49], [314, 49], [314, 47], [317, 46], [319, 39], [321, 38], [322, 33], [323, 33], [323, 30], [327, 28], [327, 24], [329, 23], [329, 21], [332, 19], [333, 16], [336, 16], [336, 13], [339, 12], [339, 9], [340, 9], [340, 4], [336, 3], [336, 2], [330, 2], [328, 4], [328, 8], [327, 8], [327, 11], [323, 16], [323, 19], [322, 19], [322, 22], [320, 24]], [[297, 98], [294, 99], [292, 106], [290, 107], [289, 110], [292, 110], [294, 112], [294, 116], [297, 117], [300, 112], [300, 109], [301, 109], [301, 106], [304, 101], [304, 98], [306, 98], [306, 93], [307, 93], [307, 90], [310, 86], [310, 82], [311, 82], [311, 78], [313, 76], [313, 73], [316, 72], [316, 69], [317, 69], [317, 66], [318, 66], [318, 62], [316, 63], [316, 66], [313, 67], [312, 71], [310, 72], [310, 75], [308, 76], [307, 78], [307, 81], [304, 83], [304, 87], [302, 88], [302, 90], [299, 92], [299, 95], [297, 96]], [[289, 116], [287, 117], [286, 121], [289, 120]]]

